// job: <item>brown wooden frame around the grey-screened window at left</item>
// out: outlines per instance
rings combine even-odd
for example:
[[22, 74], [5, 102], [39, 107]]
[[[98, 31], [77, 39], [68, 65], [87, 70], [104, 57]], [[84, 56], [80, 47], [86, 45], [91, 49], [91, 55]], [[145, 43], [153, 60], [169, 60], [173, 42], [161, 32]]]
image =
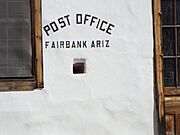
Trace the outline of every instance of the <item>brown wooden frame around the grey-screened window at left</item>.
[[0, 91], [33, 90], [43, 88], [43, 52], [41, 0], [31, 0], [31, 29], [33, 50], [33, 77], [0, 78]]

